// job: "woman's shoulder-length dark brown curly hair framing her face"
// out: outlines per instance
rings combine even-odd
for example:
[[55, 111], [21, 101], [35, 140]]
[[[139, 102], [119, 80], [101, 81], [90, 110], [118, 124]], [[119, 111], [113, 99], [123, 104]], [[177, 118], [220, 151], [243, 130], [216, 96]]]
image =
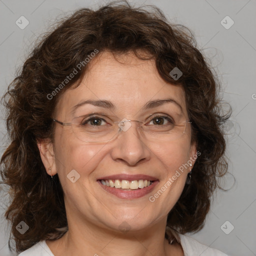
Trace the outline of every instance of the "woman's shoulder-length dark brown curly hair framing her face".
[[[190, 184], [171, 209], [167, 226], [180, 233], [203, 227], [210, 198], [218, 177], [227, 171], [225, 137], [221, 125], [230, 116], [221, 114], [219, 81], [205, 57], [196, 49], [192, 32], [167, 21], [155, 6], [131, 7], [111, 2], [97, 10], [81, 8], [58, 21], [37, 43], [22, 70], [9, 84], [2, 101], [10, 144], [1, 157], [1, 176], [9, 186], [11, 203], [5, 217], [11, 221], [16, 251], [23, 251], [43, 239], [57, 239], [67, 230], [63, 190], [56, 174], [53, 181], [42, 164], [37, 141], [54, 141], [52, 114], [61, 94], [79, 84], [87, 70], [81, 70], [54, 97], [49, 94], [94, 49], [115, 54], [139, 50], [155, 60], [160, 76], [185, 91], [192, 141], [200, 156]], [[174, 67], [182, 76], [174, 80]], [[24, 221], [29, 229], [20, 234], [15, 226]]]

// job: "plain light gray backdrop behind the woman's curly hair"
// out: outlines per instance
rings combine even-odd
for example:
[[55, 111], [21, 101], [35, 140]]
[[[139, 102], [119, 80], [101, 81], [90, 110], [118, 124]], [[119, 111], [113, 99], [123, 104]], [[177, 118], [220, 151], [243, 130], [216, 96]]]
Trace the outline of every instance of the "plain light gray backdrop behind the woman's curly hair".
[[[233, 109], [226, 130], [229, 173], [224, 188], [218, 191], [204, 228], [188, 234], [201, 243], [218, 248], [229, 255], [256, 255], [256, 172], [255, 172], [255, 0], [133, 0], [130, 3], [155, 4], [173, 23], [192, 29], [198, 48], [209, 58], [222, 83], [223, 99]], [[24, 61], [37, 36], [47, 30], [63, 12], [79, 7], [96, 8], [104, 1], [88, 0], [0, 0], [0, 94], [13, 79], [17, 67]], [[20, 29], [15, 21], [21, 16], [29, 24]], [[234, 24], [226, 29], [220, 21], [229, 16]], [[231, 24], [223, 20], [225, 26]], [[0, 151], [6, 144], [3, 116], [0, 120]], [[235, 183], [233, 176], [235, 177]], [[3, 219], [4, 201], [0, 202], [0, 256], [8, 252], [9, 227]], [[224, 223], [225, 221], [229, 221]], [[222, 225], [224, 223], [224, 225]], [[234, 229], [231, 230], [231, 225]], [[222, 229], [221, 229], [222, 226]], [[229, 232], [229, 234], [226, 234]]]

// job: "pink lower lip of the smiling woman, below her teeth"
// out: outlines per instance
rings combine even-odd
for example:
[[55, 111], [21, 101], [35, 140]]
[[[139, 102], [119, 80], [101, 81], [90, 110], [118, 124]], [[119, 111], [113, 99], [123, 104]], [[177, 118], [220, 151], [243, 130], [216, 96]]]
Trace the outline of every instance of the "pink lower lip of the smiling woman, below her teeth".
[[146, 186], [144, 188], [134, 189], [134, 190], [122, 190], [120, 188], [106, 186], [106, 185], [103, 185], [100, 180], [97, 180], [97, 182], [105, 191], [107, 191], [111, 194], [114, 194], [115, 196], [117, 196], [119, 198], [135, 199], [135, 198], [139, 198], [139, 197], [142, 197], [142, 196], [150, 193], [159, 181], [155, 180], [149, 186]]

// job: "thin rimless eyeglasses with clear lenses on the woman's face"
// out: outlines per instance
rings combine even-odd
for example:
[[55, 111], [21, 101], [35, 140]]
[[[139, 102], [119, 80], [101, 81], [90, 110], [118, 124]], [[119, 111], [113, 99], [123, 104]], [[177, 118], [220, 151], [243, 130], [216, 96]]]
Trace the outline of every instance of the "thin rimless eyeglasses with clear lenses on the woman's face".
[[[114, 116], [105, 114], [90, 114], [74, 117], [71, 122], [61, 122], [56, 119], [52, 120], [63, 126], [70, 125], [73, 134], [78, 139], [83, 142], [93, 143], [111, 141], [115, 139], [121, 131], [127, 132], [134, 126], [139, 135], [148, 141], [158, 143], [168, 142], [180, 138], [186, 131], [187, 123], [191, 123], [185, 118], [175, 122], [169, 115], [162, 114], [156, 114], [145, 121], [127, 120], [126, 118], [123, 118], [121, 121], [112, 121], [113, 118]], [[133, 125], [131, 122], [133, 122]], [[156, 124], [150, 124], [151, 122]]]

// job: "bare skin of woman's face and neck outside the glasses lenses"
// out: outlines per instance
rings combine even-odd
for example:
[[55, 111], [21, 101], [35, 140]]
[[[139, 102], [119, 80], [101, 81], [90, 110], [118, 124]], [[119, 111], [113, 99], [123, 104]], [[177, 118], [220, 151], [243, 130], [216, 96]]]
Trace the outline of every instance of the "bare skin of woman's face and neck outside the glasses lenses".
[[[147, 101], [171, 97], [188, 119], [183, 89], [166, 83], [158, 74], [154, 60], [141, 60], [133, 53], [116, 55], [116, 59], [107, 51], [92, 59], [79, 86], [68, 88], [60, 96], [54, 118], [70, 122], [73, 116], [94, 111], [118, 116], [116, 121], [145, 120], [151, 113], [164, 113], [170, 106], [178, 109], [175, 103], [169, 102], [142, 110]], [[87, 99], [109, 100], [115, 108], [85, 104], [71, 113], [74, 105]], [[55, 256], [183, 255], [181, 245], [168, 244], [164, 233], [167, 214], [178, 200], [190, 168], [184, 169], [154, 202], [148, 197], [196, 154], [195, 145], [190, 142], [189, 123], [182, 136], [168, 142], [146, 141], [133, 125], [116, 139], [98, 144], [83, 142], [74, 135], [70, 125], [56, 123], [54, 144], [41, 142], [41, 158], [47, 173], [59, 176], [68, 231], [55, 241], [46, 241], [52, 253]], [[72, 169], [80, 175], [74, 183], [67, 178]], [[158, 183], [142, 197], [119, 198], [97, 182], [99, 177], [114, 174], [150, 175]], [[121, 224], [128, 226], [126, 232], [120, 230]]]

